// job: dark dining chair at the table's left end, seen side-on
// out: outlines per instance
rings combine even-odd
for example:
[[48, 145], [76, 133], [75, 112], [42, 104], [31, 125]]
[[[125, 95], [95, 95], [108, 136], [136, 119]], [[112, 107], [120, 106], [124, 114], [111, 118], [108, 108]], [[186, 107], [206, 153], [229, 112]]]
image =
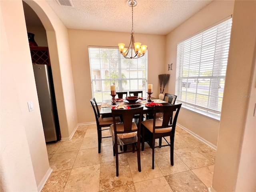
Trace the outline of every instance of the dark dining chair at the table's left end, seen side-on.
[[[98, 153], [100, 153], [101, 151], [101, 142], [102, 142], [102, 138], [108, 138], [111, 136], [105, 136], [102, 137], [102, 131], [104, 130], [109, 130], [110, 125], [113, 124], [113, 118], [112, 117], [106, 117], [106, 118], [102, 118], [102, 116], [100, 116], [100, 111], [97, 105], [97, 102], [95, 100], [95, 98], [91, 98], [90, 102], [92, 104], [92, 108], [94, 110], [94, 115], [95, 115], [95, 119], [96, 119], [96, 124], [97, 124], [97, 132], [98, 132]], [[116, 117], [115, 122], [121, 122], [119, 117]], [[104, 129], [102, 129], [104, 128]]]

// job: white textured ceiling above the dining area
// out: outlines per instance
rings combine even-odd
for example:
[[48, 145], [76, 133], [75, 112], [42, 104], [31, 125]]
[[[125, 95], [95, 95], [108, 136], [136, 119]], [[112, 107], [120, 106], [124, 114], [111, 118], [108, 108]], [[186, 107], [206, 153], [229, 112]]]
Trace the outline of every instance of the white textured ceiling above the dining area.
[[[134, 32], [166, 35], [212, 0], [137, 0]], [[126, 0], [71, 0], [74, 7], [46, 0], [69, 29], [130, 32], [132, 8]]]

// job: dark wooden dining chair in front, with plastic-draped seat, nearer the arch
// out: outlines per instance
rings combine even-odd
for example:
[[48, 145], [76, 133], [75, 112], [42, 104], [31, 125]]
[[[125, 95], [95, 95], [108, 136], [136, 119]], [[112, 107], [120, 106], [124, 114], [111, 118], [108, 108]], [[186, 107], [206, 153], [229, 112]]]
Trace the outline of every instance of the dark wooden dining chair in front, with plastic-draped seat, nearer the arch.
[[[127, 152], [137, 152], [138, 171], [141, 172], [140, 166], [140, 126], [141, 117], [143, 114], [143, 107], [131, 108], [131, 109], [112, 109], [112, 118], [114, 124], [110, 126], [110, 133], [113, 140], [113, 152], [116, 156], [116, 176], [119, 175], [118, 167], [118, 154]], [[132, 122], [132, 118], [135, 114], [139, 114], [139, 124]], [[121, 116], [123, 119], [122, 123], [116, 121], [116, 118]], [[132, 150], [124, 150], [118, 152], [118, 145], [127, 146], [132, 144]], [[136, 147], [136, 149], [135, 149]]]

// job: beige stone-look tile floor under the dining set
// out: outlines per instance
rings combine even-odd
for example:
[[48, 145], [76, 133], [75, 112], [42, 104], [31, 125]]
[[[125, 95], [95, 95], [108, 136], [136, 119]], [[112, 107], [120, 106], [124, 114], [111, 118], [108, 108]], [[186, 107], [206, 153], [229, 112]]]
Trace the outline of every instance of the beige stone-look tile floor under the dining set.
[[170, 148], [162, 147], [156, 149], [152, 170], [152, 150], [145, 144], [142, 171], [138, 172], [136, 153], [121, 154], [118, 177], [111, 139], [103, 139], [98, 154], [96, 124], [92, 124], [79, 126], [72, 140], [47, 144], [53, 172], [42, 192], [207, 192], [212, 185], [215, 150], [178, 126], [174, 166]]

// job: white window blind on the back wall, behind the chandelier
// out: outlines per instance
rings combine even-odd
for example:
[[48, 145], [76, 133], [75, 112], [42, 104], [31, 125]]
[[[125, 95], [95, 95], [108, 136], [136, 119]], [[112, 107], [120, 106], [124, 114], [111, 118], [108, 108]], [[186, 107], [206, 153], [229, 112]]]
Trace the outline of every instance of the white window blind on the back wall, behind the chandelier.
[[116, 92], [143, 91], [146, 96], [147, 51], [137, 59], [124, 58], [118, 48], [89, 46], [92, 96], [98, 103], [110, 100], [110, 85]]

